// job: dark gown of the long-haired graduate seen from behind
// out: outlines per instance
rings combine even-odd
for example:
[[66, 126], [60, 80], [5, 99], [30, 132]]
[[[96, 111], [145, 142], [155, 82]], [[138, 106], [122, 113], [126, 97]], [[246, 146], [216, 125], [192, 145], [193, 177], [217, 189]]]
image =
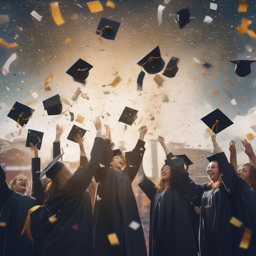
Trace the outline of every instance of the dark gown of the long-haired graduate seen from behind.
[[[84, 192], [97, 170], [103, 148], [104, 140], [96, 137], [89, 163], [79, 167], [60, 193], [52, 196], [42, 207], [42, 256], [93, 255], [91, 199]], [[49, 220], [52, 216], [56, 220], [53, 223]]]

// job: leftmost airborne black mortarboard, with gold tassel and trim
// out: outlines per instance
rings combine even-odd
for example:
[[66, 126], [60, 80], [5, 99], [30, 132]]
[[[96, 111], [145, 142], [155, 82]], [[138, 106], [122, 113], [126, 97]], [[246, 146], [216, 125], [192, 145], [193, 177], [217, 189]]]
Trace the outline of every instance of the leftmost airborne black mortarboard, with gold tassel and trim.
[[28, 120], [31, 118], [34, 111], [33, 108], [16, 101], [7, 116], [16, 121], [17, 127], [19, 127], [19, 124], [24, 126], [28, 123]]

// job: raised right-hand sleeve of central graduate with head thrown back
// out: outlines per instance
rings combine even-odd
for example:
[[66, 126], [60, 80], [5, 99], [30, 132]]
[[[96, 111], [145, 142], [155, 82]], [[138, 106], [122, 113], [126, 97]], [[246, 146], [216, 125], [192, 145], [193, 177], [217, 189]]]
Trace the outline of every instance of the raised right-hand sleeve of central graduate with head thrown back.
[[125, 171], [127, 172], [131, 182], [135, 178], [140, 168], [140, 164], [145, 152], [145, 141], [138, 140], [135, 148], [132, 151], [125, 153], [125, 160], [126, 160], [126, 168]]

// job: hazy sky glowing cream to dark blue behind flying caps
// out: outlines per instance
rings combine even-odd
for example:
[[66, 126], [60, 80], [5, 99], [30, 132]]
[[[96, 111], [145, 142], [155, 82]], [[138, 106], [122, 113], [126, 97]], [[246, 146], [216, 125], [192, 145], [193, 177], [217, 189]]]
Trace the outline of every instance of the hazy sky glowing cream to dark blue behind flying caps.
[[[164, 154], [158, 145], [152, 149], [152, 141], [158, 135], [166, 143], [179, 142], [185, 148], [212, 149], [210, 138], [206, 138], [207, 126], [200, 120], [219, 108], [234, 124], [217, 135], [217, 141], [226, 155], [229, 155], [230, 140], [236, 140], [238, 163], [247, 162], [240, 140], [248, 133], [256, 135], [250, 128], [256, 125], [256, 63], [251, 64], [251, 73], [239, 77], [232, 60], [256, 58], [256, 40], [247, 33], [238, 35], [241, 19], [251, 20], [250, 29], [256, 31], [256, 2], [249, 1], [246, 13], [238, 13], [239, 1], [162, 1], [140, 0], [113, 1], [115, 8], [100, 1], [101, 12], [91, 13], [86, 5], [89, 1], [59, 1], [63, 25], [55, 24], [48, 0], [0, 1], [0, 14], [9, 16], [9, 22], [0, 24], [0, 38], [17, 47], [0, 45], [0, 65], [3, 66], [11, 54], [17, 59], [10, 65], [9, 73], [0, 73], [0, 137], [8, 133], [17, 134], [16, 122], [7, 117], [16, 101], [35, 109], [21, 136], [27, 136], [27, 129], [44, 132], [42, 154], [49, 154], [55, 139], [56, 124], [63, 125], [61, 146], [65, 152], [63, 160], [78, 160], [79, 147], [66, 140], [73, 124], [87, 130], [85, 148], [89, 155], [95, 136], [92, 120], [101, 116], [102, 123], [112, 131], [115, 148], [129, 151], [139, 136], [138, 128], [148, 127], [145, 137], [146, 152], [144, 168], [160, 168]], [[217, 4], [217, 10], [210, 9], [210, 3]], [[162, 22], [157, 20], [157, 8], [165, 6]], [[174, 13], [189, 8], [191, 21], [180, 29], [174, 21]], [[36, 20], [30, 13], [36, 11], [42, 16]], [[212, 17], [208, 24], [205, 16]], [[103, 39], [96, 34], [101, 18], [120, 22], [115, 40]], [[71, 42], [66, 39], [71, 38]], [[70, 39], [69, 39], [70, 41]], [[137, 77], [143, 68], [137, 62], [159, 46], [161, 57], [168, 63], [171, 57], [179, 58], [178, 72], [168, 78], [146, 73], [143, 90], [137, 91]], [[86, 83], [73, 81], [66, 74], [79, 58], [90, 63]], [[212, 65], [209, 69], [203, 64]], [[51, 74], [50, 91], [45, 90], [44, 80]], [[116, 77], [121, 78], [116, 86], [110, 85]], [[161, 81], [161, 83], [155, 82]], [[105, 86], [104, 86], [105, 85]], [[73, 101], [77, 88], [88, 96]], [[36, 92], [34, 98], [31, 93]], [[63, 102], [61, 116], [48, 116], [42, 101], [59, 94]], [[163, 96], [168, 102], [163, 102]], [[235, 99], [236, 105], [231, 104]], [[65, 104], [70, 103], [69, 104]], [[118, 122], [124, 107], [138, 110], [138, 118], [132, 126]], [[71, 122], [69, 112], [83, 116], [83, 123]], [[21, 127], [20, 127], [21, 128]], [[250, 143], [256, 148], [255, 139]], [[174, 152], [175, 153], [175, 152]], [[40, 154], [40, 153], [39, 153]], [[154, 166], [154, 158], [160, 159]], [[162, 160], [161, 160], [162, 159]], [[193, 159], [196, 164], [196, 159]], [[146, 167], [145, 167], [146, 166]]]

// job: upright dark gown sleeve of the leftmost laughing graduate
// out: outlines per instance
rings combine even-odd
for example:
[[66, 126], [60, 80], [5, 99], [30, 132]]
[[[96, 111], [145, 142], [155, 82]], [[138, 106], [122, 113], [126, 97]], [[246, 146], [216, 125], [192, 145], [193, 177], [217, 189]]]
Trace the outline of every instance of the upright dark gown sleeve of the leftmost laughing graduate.
[[38, 204], [43, 204], [44, 202], [44, 187], [40, 181], [40, 170], [41, 170], [41, 160], [39, 157], [33, 157], [31, 159], [31, 171], [32, 171], [32, 194], [36, 198]]

